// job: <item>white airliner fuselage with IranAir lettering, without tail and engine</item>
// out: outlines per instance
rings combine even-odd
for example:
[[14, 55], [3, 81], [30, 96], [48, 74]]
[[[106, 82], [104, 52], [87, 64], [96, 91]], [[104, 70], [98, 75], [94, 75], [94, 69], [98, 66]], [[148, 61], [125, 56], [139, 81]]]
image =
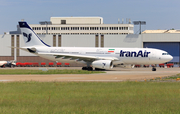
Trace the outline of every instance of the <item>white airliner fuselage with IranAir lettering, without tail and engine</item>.
[[[86, 55], [95, 57], [116, 58], [114, 65], [118, 64], [160, 64], [172, 60], [166, 51], [152, 48], [85, 48], [85, 47], [35, 47], [38, 56], [58, 61], [75, 62], [70, 58], [55, 58], [53, 54]], [[38, 54], [49, 53], [49, 54]], [[51, 55], [50, 55], [51, 54]]]

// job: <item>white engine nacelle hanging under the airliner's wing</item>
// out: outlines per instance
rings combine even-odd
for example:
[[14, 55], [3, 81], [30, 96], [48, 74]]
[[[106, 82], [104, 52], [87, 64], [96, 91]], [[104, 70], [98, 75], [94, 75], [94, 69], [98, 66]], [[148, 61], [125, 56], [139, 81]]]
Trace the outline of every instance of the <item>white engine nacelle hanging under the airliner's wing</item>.
[[113, 68], [113, 63], [111, 60], [97, 60], [92, 62], [92, 67], [100, 69], [111, 69]]

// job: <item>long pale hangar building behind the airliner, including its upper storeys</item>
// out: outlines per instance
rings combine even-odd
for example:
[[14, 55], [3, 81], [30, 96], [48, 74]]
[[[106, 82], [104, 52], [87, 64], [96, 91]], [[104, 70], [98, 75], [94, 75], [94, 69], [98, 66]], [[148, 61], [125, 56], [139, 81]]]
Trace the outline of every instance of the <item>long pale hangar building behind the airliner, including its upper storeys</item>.
[[[134, 25], [103, 24], [101, 17], [52, 17], [50, 23], [41, 22], [30, 26], [44, 42], [54, 47], [157, 48], [171, 54], [174, 57], [171, 62], [179, 66], [180, 31], [178, 30], [146, 30], [140, 35], [133, 34]], [[0, 61], [50, 62], [29, 52], [10, 48], [23, 46], [23, 36], [19, 31], [0, 35]]]

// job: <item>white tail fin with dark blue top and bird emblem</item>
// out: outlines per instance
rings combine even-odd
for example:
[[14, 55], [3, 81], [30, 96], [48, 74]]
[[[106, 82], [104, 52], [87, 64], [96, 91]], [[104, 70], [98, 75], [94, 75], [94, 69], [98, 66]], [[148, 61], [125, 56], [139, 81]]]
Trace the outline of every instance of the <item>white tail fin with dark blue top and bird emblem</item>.
[[29, 25], [26, 22], [19, 22], [19, 27], [21, 29], [21, 33], [23, 35], [23, 39], [26, 46], [36, 45], [50, 47], [37, 36], [37, 34], [29, 27]]

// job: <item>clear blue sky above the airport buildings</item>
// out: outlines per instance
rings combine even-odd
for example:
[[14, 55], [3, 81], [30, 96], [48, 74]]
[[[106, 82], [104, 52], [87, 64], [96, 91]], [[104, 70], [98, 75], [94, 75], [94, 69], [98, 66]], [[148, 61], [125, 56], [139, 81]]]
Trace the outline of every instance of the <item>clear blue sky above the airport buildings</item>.
[[[180, 0], [0, 0], [0, 34], [50, 17], [103, 17], [105, 24], [146, 21], [142, 30], [180, 30]], [[134, 32], [139, 26], [135, 25]]]

